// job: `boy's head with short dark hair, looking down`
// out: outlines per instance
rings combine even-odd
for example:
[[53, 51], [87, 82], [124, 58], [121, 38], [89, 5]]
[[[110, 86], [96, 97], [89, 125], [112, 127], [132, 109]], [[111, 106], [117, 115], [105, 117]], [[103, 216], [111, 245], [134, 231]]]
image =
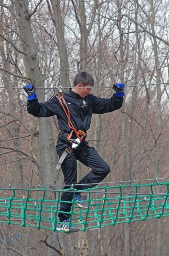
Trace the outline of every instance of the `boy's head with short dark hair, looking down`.
[[[91, 87], [94, 85], [94, 79], [88, 72], [80, 72], [74, 77], [73, 89], [81, 98], [91, 93]], [[90, 88], [86, 88], [90, 87]]]

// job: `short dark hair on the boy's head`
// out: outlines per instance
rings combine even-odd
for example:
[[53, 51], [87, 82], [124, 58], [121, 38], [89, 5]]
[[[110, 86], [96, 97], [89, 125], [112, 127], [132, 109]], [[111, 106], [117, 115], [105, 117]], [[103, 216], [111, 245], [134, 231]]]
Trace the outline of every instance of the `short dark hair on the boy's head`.
[[94, 85], [94, 79], [91, 74], [88, 72], [80, 72], [74, 77], [73, 86], [75, 87], [77, 84], [82, 84], [83, 86], [92, 84]]

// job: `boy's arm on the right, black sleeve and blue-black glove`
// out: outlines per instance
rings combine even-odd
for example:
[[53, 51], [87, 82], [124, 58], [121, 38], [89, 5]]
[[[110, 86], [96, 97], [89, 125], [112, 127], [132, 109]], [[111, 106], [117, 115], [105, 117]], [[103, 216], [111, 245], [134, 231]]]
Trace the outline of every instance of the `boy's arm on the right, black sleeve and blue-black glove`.
[[100, 98], [92, 95], [92, 113], [103, 114], [121, 108], [123, 104], [124, 84], [113, 84], [115, 93], [109, 99]]

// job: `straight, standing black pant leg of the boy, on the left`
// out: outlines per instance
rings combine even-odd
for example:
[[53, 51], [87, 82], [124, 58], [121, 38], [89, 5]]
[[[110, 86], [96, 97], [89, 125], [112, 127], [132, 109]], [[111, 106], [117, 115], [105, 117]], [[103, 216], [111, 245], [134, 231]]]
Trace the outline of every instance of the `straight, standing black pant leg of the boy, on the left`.
[[[59, 157], [61, 155], [62, 153], [59, 154]], [[64, 180], [66, 185], [77, 183], [77, 161], [73, 151], [71, 151], [71, 153], [66, 156], [65, 160], [62, 163], [61, 169], [64, 175]], [[69, 186], [65, 186], [64, 189], [69, 189]], [[73, 192], [69, 192], [69, 191], [62, 192], [61, 200], [72, 201], [73, 194], [74, 194]], [[70, 204], [60, 203], [60, 211], [70, 212], [71, 207], [72, 207], [72, 203]], [[60, 222], [62, 222], [65, 219], [69, 219], [70, 214], [59, 212], [58, 217], [60, 219]]]

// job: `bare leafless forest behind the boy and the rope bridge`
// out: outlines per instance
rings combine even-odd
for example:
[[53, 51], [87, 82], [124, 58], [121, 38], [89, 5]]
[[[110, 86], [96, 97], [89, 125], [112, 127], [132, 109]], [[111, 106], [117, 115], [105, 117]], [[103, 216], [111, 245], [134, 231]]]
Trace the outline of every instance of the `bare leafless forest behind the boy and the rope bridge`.
[[[81, 70], [92, 74], [100, 97], [112, 96], [113, 83], [126, 84], [123, 107], [93, 115], [88, 131], [111, 167], [104, 181], [169, 176], [168, 1], [0, 0], [0, 70], [1, 184], [63, 185], [55, 171], [56, 116], [29, 115], [22, 88], [34, 82], [44, 102], [51, 87], [71, 87]], [[78, 166], [79, 179], [89, 169]], [[167, 218], [49, 232], [53, 250], [40, 241], [43, 230], [1, 224], [0, 255], [166, 256], [168, 234]]]

